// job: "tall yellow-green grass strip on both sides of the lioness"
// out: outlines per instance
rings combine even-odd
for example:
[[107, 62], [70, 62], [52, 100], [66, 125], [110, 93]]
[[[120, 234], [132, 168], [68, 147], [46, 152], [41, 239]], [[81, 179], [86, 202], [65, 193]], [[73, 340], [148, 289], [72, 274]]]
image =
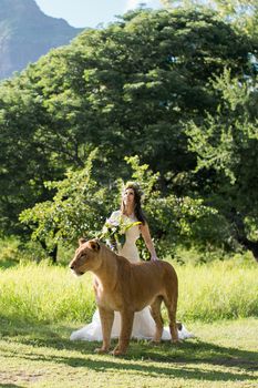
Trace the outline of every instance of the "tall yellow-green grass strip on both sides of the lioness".
[[[176, 265], [177, 318], [211, 321], [258, 316], [258, 266], [230, 262]], [[92, 277], [45, 263], [0, 270], [0, 317], [33, 323], [89, 321], [94, 312]]]

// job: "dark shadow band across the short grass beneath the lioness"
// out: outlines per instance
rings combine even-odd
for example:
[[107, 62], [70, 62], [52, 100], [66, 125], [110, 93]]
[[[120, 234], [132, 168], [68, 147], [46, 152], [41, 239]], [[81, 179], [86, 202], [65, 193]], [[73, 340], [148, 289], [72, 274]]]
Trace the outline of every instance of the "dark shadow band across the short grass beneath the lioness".
[[[4, 336], [9, 340], [10, 337], [13, 337], [16, 343], [38, 348], [35, 354], [32, 354], [31, 350], [22, 353], [22, 358], [31, 361], [63, 364], [73, 368], [83, 367], [94, 371], [134, 371], [137, 375], [147, 374], [153, 378], [169, 376], [208, 381], [257, 381], [257, 378], [252, 375], [255, 370], [258, 370], [258, 354], [255, 351], [223, 347], [198, 339], [188, 339], [178, 346], [173, 346], [166, 341], [153, 346], [147, 341], [132, 340], [128, 354], [124, 357], [114, 358], [113, 356], [94, 355], [94, 349], [100, 346], [100, 343], [69, 340], [69, 334], [72, 330], [66, 326], [28, 325], [24, 323], [19, 323], [19, 326], [10, 323], [8, 326], [4, 327], [2, 333], [3, 339]], [[112, 346], [114, 347], [115, 344], [116, 340], [113, 340]], [[39, 351], [45, 347], [54, 350], [73, 351], [73, 354], [76, 351], [79, 355], [64, 356], [63, 353], [59, 354], [56, 351], [48, 357], [43, 349], [42, 353]], [[16, 356], [6, 351], [6, 357]], [[221, 366], [227, 368], [227, 371], [205, 369], [203, 365], [206, 365], [206, 367], [207, 365]]]

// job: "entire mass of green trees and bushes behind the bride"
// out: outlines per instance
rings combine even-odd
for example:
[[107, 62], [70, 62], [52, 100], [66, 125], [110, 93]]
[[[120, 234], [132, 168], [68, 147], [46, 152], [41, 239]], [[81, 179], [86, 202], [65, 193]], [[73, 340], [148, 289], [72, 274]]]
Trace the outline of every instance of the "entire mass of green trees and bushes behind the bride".
[[258, 6], [163, 3], [0, 83], [6, 255], [56, 262], [136, 180], [159, 256], [258, 261]]

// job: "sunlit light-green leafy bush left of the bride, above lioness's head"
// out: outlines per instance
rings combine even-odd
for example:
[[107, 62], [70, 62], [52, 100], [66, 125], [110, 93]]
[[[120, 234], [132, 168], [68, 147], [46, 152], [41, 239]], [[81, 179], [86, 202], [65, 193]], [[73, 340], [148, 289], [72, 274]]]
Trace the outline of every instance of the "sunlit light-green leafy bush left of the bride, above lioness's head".
[[74, 244], [79, 237], [95, 237], [104, 224], [113, 197], [92, 176], [95, 157], [96, 150], [83, 169], [69, 170], [62, 181], [45, 182], [49, 190], [55, 191], [53, 200], [38, 203], [20, 215], [20, 221], [32, 232], [32, 239], [41, 244], [53, 263], [59, 242]]

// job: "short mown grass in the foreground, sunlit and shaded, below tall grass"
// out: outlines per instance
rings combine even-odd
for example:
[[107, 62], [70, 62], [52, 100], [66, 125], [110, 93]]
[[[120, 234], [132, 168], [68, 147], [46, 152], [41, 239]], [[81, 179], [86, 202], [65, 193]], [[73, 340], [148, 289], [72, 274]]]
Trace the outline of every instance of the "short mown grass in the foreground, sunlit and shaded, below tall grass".
[[178, 346], [132, 341], [125, 357], [95, 355], [96, 343], [70, 341], [71, 325], [0, 318], [0, 387], [257, 387], [258, 319], [194, 323]]

